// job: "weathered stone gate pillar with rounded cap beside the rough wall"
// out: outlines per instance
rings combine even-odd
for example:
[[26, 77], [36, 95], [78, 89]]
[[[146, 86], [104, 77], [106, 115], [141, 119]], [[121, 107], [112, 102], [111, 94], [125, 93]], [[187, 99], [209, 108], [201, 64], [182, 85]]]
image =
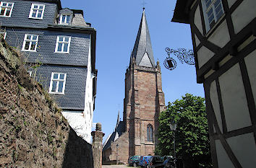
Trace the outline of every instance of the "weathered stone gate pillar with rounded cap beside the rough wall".
[[96, 124], [96, 131], [91, 133], [93, 136], [93, 165], [94, 168], [102, 167], [102, 138], [105, 135], [101, 131], [101, 123]]

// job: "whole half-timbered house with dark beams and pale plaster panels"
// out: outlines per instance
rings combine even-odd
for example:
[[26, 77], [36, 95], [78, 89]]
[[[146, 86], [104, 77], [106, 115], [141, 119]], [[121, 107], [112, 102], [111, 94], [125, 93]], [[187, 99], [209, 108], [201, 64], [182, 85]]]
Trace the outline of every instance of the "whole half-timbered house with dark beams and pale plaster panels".
[[177, 0], [203, 83], [215, 168], [256, 165], [256, 1]]

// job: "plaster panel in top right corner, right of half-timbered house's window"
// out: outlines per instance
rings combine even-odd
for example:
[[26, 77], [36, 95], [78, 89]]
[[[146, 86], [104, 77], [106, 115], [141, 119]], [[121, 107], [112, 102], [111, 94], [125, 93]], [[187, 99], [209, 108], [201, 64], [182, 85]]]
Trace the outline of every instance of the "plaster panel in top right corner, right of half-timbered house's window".
[[240, 32], [256, 17], [256, 1], [244, 0], [231, 14], [235, 33]]

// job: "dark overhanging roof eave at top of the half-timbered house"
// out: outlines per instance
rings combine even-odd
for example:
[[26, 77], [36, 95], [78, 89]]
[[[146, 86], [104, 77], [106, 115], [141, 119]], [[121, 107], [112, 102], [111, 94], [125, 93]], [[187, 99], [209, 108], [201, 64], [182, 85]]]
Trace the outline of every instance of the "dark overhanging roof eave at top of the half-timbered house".
[[177, 0], [171, 22], [189, 24], [189, 7], [192, 5], [193, 1], [195, 0]]

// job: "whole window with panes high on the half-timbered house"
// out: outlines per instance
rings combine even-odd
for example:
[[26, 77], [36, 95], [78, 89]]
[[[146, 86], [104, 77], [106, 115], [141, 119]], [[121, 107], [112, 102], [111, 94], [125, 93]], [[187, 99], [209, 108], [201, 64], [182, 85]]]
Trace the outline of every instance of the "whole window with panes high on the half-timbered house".
[[205, 26], [208, 32], [224, 13], [221, 0], [202, 0], [205, 16]]

